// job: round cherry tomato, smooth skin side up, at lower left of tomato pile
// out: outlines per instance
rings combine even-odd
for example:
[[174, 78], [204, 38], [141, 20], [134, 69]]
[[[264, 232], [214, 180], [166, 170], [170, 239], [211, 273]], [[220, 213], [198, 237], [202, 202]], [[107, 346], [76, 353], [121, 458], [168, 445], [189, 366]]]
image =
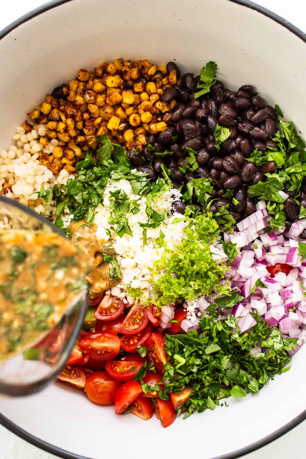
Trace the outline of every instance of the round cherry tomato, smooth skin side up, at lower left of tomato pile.
[[94, 371], [87, 376], [84, 391], [93, 403], [106, 406], [113, 403], [120, 386], [120, 382], [111, 379], [106, 371]]

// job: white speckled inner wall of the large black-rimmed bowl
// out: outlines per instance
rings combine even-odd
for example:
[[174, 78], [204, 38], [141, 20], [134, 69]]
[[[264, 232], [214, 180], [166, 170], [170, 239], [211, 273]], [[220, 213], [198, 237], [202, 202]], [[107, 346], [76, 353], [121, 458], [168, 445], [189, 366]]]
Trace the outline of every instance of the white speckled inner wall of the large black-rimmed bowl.
[[[181, 72], [217, 62], [228, 87], [254, 84], [285, 118], [306, 131], [305, 35], [249, 1], [54, 1], [0, 34], [0, 146], [46, 93], [116, 57], [176, 59]], [[181, 418], [167, 429], [90, 403], [59, 384], [25, 398], [0, 398], [0, 422], [63, 458], [237, 458], [267, 444], [306, 418], [306, 348], [289, 372], [259, 394], [228, 400], [229, 408]], [[156, 448], [155, 448], [156, 446]]]

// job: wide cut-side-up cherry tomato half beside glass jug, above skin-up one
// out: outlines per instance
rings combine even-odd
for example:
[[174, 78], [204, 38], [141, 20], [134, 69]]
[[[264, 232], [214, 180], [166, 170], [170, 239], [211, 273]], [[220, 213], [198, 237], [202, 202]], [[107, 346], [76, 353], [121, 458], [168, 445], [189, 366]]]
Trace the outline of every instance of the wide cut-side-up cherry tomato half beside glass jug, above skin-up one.
[[120, 350], [120, 340], [113, 333], [89, 333], [79, 341], [83, 354], [96, 360], [109, 360], [116, 357]]

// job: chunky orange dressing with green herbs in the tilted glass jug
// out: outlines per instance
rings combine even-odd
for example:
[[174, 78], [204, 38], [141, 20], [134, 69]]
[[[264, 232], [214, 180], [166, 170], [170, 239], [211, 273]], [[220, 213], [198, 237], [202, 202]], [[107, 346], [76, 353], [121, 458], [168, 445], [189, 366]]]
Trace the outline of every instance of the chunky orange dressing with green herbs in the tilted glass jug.
[[85, 253], [56, 233], [0, 233], [0, 361], [37, 343], [87, 288]]

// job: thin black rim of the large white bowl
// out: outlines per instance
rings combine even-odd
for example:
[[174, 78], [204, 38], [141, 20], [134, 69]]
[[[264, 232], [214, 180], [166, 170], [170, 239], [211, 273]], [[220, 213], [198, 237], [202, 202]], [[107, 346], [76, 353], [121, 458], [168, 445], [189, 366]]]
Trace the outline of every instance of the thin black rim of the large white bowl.
[[[39, 14], [44, 13], [45, 11], [48, 11], [52, 8], [55, 8], [56, 6], [60, 6], [63, 3], [68, 3], [69, 1], [73, 1], [73, 0], [53, 0], [53, 1], [50, 1], [49, 3], [46, 3], [45, 5], [40, 6], [39, 8], [36, 8], [33, 11], [28, 12], [24, 16], [12, 22], [5, 29], [3, 29], [0, 32], [0, 40], [3, 37], [5, 37], [7, 34], [9, 34], [12, 30], [17, 28], [21, 24], [23, 24], [24, 22], [27, 22], [33, 17], [38, 16]], [[278, 22], [278, 24], [281, 24], [283, 27], [285, 27], [290, 32], [292, 32], [297, 37], [299, 37], [302, 41], [304, 41], [304, 43], [306, 43], [306, 34], [304, 34], [304, 32], [302, 32], [299, 28], [295, 27], [290, 22], [287, 22], [284, 18], [273, 13], [273, 11], [267, 10], [263, 6], [257, 5], [256, 3], [253, 3], [249, 0], [227, 0], [227, 1], [232, 1], [233, 3], [237, 3], [238, 5], [245, 6], [247, 8], [257, 11], [258, 13], [263, 14], [264, 16], [269, 17], [273, 21]], [[283, 427], [273, 432], [272, 434], [268, 435], [267, 437], [262, 438], [258, 442], [252, 443], [251, 445], [246, 446], [245, 448], [238, 449], [232, 453], [223, 454], [221, 456], [217, 456], [211, 459], [236, 459], [241, 456], [244, 456], [245, 454], [256, 451], [256, 449], [262, 448], [268, 443], [273, 442], [277, 438], [289, 432], [291, 429], [299, 425], [305, 419], [306, 419], [306, 410], [300, 413], [298, 416], [296, 416], [295, 419], [288, 422], [288, 424], [284, 425]], [[6, 427], [11, 432], [18, 435], [18, 437], [21, 437], [23, 440], [26, 440], [27, 442], [32, 443], [34, 446], [44, 449], [48, 453], [55, 454], [56, 456], [61, 457], [63, 459], [92, 459], [86, 456], [80, 456], [78, 454], [70, 453], [69, 451], [65, 451], [64, 449], [58, 448], [55, 445], [51, 445], [50, 443], [45, 442], [44, 440], [41, 440], [40, 438], [34, 437], [32, 434], [23, 430], [21, 427], [18, 427], [18, 425], [11, 422], [9, 419], [7, 419], [2, 414], [0, 414], [0, 424], [2, 424], [4, 427]]]

